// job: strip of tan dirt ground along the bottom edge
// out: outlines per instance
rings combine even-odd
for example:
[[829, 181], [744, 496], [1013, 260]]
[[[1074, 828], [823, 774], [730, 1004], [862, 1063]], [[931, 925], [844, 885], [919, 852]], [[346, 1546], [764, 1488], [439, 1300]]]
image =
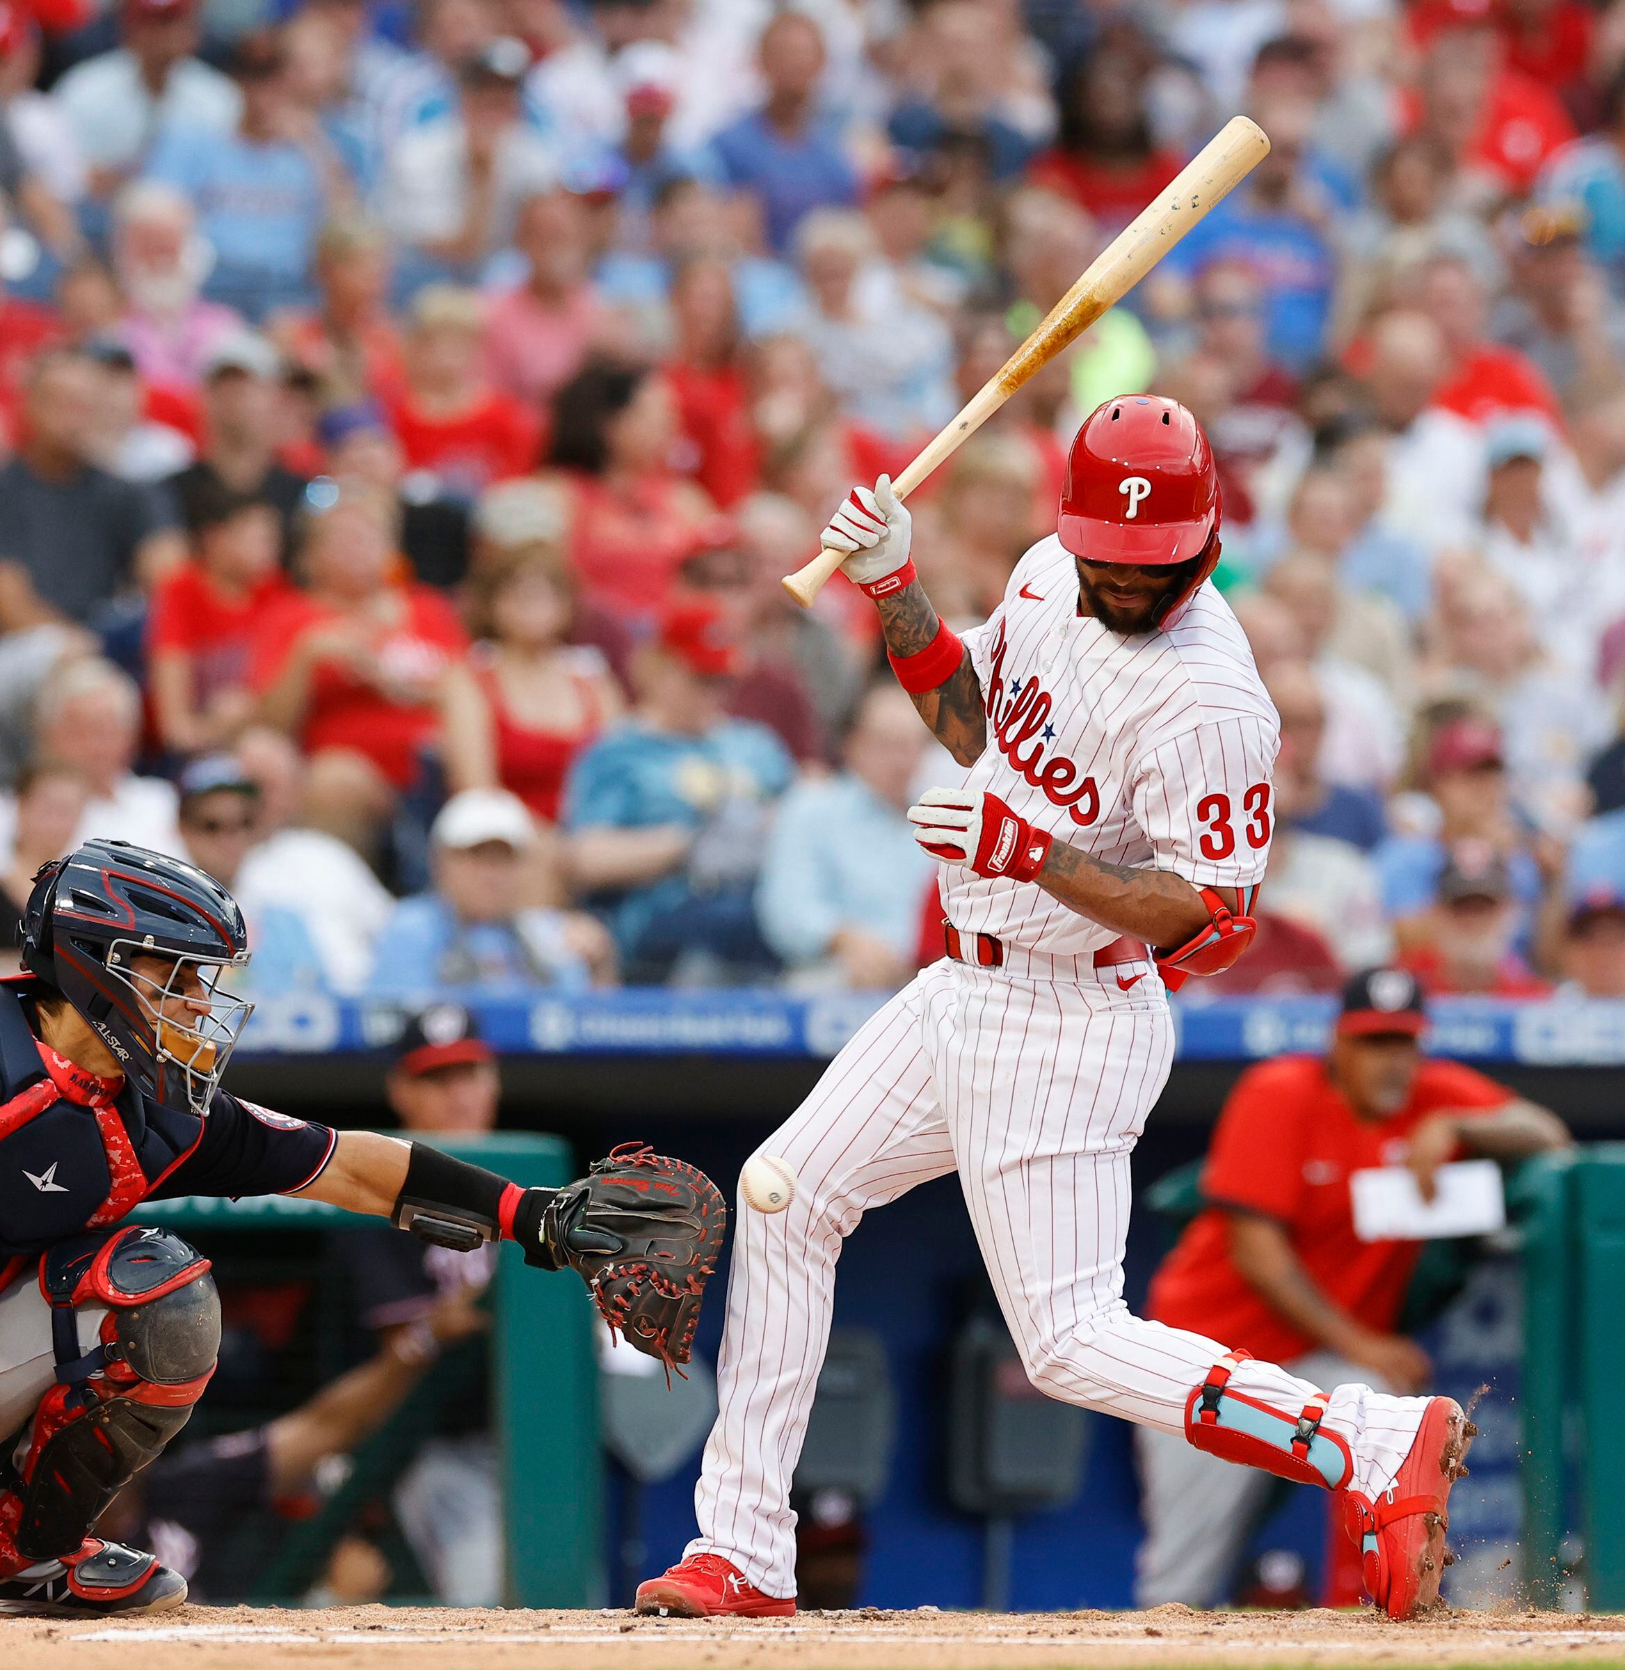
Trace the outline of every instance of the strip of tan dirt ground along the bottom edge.
[[3, 1670], [1037, 1670], [1136, 1665], [1625, 1665], [1625, 1617], [1369, 1613], [805, 1613], [685, 1623], [625, 1612], [185, 1607], [129, 1623], [0, 1620]]

